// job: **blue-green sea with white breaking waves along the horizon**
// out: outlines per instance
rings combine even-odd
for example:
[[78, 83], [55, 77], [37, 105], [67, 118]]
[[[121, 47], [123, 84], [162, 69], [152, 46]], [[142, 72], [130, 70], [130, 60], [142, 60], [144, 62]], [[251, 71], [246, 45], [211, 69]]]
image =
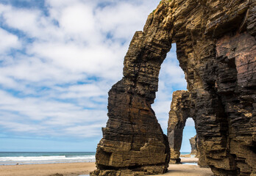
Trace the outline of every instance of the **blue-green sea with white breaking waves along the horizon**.
[[95, 162], [95, 154], [95, 152], [0, 152], [0, 165]]

